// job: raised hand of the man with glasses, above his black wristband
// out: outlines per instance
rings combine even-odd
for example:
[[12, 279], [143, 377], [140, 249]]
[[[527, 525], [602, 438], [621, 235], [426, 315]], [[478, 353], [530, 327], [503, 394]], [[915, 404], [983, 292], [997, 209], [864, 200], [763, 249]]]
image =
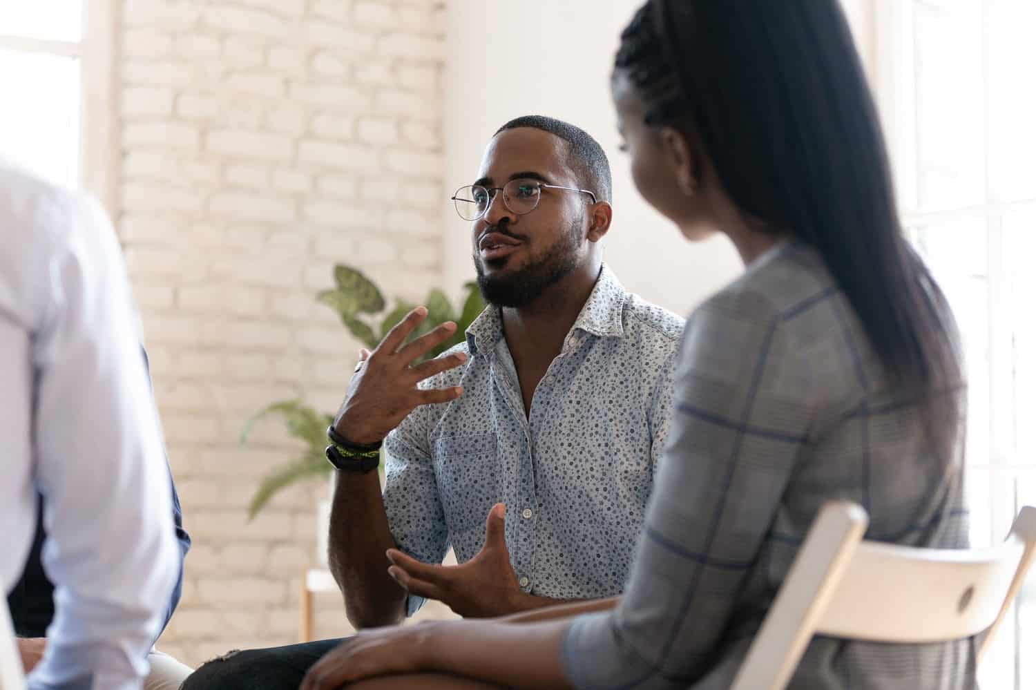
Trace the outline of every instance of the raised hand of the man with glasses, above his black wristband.
[[399, 426], [414, 407], [450, 402], [463, 394], [460, 386], [429, 391], [418, 389], [419, 382], [459, 367], [467, 360], [463, 352], [456, 352], [413, 364], [457, 330], [457, 324], [451, 321], [412, 343], [404, 344], [407, 336], [427, 316], [428, 310], [424, 307], [414, 309], [366, 357], [349, 381], [345, 402], [335, 418], [335, 430], [339, 434], [354, 443], [376, 443]]

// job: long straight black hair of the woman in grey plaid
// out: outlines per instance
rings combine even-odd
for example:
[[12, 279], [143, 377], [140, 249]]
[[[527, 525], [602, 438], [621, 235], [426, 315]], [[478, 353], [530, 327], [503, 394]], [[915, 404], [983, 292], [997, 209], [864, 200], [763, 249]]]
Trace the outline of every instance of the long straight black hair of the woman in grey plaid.
[[[814, 248], [939, 445], [961, 384], [945, 297], [903, 237], [877, 112], [837, 0], [650, 0], [615, 69], [650, 125], [696, 133], [733, 203]], [[956, 396], [949, 396], [956, 397]]]

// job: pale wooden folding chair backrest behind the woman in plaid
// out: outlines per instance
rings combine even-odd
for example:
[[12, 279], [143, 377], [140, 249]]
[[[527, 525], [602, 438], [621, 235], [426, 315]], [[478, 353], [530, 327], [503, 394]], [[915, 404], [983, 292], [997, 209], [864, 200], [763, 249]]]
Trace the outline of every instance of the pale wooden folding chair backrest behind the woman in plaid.
[[979, 656], [1036, 555], [1025, 507], [990, 549], [924, 549], [862, 541], [866, 512], [831, 501], [817, 515], [735, 681], [782, 690], [814, 634], [882, 642], [960, 639], [988, 630]]

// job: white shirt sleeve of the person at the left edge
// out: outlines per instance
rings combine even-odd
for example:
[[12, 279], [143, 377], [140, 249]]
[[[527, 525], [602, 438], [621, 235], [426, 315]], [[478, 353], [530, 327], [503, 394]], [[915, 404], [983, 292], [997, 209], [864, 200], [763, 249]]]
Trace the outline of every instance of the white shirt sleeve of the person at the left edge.
[[179, 562], [169, 473], [118, 242], [66, 200], [40, 277], [33, 457], [56, 614], [30, 688], [128, 690], [147, 672]]

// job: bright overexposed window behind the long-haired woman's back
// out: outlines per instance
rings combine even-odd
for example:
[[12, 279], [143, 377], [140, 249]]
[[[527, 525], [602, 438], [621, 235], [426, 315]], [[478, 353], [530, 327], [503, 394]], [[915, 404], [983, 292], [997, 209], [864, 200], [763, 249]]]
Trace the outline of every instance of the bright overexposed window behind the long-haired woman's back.
[[[972, 542], [1036, 505], [1036, 3], [875, 0], [875, 86], [906, 231], [954, 308], [969, 375]], [[1030, 581], [1032, 578], [1030, 578]], [[982, 665], [1036, 687], [1036, 587]]]

